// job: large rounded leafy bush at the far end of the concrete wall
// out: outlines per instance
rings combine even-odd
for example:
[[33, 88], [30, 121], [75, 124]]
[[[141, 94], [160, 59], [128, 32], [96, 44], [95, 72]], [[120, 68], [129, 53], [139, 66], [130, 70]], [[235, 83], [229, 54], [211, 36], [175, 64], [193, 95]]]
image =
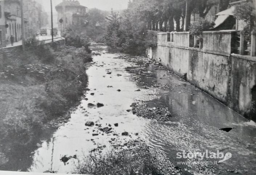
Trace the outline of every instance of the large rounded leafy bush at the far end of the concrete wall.
[[127, 9], [121, 15], [112, 12], [112, 16], [103, 38], [114, 51], [143, 55], [147, 47], [157, 45], [156, 33], [148, 33], [145, 22], [139, 21], [133, 10]]

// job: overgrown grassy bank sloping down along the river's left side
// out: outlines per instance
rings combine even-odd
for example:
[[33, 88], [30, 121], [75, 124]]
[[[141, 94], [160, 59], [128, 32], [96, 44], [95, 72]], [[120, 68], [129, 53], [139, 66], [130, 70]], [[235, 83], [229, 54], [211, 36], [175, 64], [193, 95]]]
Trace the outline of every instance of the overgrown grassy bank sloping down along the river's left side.
[[[41, 129], [79, 102], [87, 85], [84, 48], [5, 50], [0, 66], [0, 153], [34, 144]], [[57, 123], [52, 122], [52, 125]], [[35, 144], [36, 145], [36, 144]], [[2, 149], [2, 150], [1, 150]], [[8, 155], [0, 156], [0, 167]]]

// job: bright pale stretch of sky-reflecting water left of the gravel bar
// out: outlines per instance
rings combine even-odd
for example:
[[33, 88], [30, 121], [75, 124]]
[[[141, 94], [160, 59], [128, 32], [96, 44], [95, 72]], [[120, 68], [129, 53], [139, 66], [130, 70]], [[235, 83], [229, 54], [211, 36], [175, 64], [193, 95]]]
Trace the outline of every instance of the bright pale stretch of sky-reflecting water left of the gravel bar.
[[[129, 73], [125, 71], [125, 68], [131, 64], [123, 60], [113, 59], [116, 56], [105, 54], [94, 57], [95, 64], [87, 71], [88, 88], [90, 89], [85, 95], [87, 99], [81, 101], [78, 109], [71, 114], [69, 122], [60, 127], [54, 133], [53, 138], [45, 141], [42, 147], [36, 150], [29, 171], [70, 172], [74, 168], [73, 162], [77, 160], [72, 158], [67, 162], [67, 165], [64, 165], [60, 161], [64, 155], [67, 157], [76, 155], [77, 158], [81, 158], [98, 146], [109, 147], [111, 138], [120, 141], [136, 139], [138, 136], [135, 136], [135, 133], [142, 132], [147, 120], [139, 119], [126, 110], [130, 109], [135, 98], [141, 98], [140, 96], [143, 94], [134, 93], [138, 87], [135, 82], [129, 80]], [[107, 74], [108, 72], [111, 74]], [[119, 76], [117, 76], [118, 74]], [[117, 91], [118, 89], [121, 91]], [[104, 106], [89, 108], [89, 103], [102, 103]], [[85, 126], [86, 121], [93, 121], [102, 127], [109, 127], [110, 124], [113, 133], [102, 135], [103, 133], [99, 131], [98, 126]], [[118, 127], [114, 126], [115, 123], [118, 123]], [[121, 136], [124, 131], [130, 133], [131, 138]], [[93, 133], [99, 133], [99, 135], [92, 136]]]

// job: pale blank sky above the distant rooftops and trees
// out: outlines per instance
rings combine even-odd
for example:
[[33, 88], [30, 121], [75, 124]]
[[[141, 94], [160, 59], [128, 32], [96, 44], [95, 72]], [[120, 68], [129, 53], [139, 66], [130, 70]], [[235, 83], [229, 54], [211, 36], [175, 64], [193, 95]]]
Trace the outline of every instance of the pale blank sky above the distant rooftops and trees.
[[[50, 11], [50, 0], [36, 0], [38, 3], [41, 3], [46, 12]], [[111, 8], [114, 10], [122, 10], [127, 8], [129, 0], [78, 0], [81, 5], [84, 5], [88, 8], [98, 8], [101, 10], [110, 11]], [[62, 0], [52, 0], [53, 3], [53, 12], [56, 12], [55, 6], [61, 3]]]

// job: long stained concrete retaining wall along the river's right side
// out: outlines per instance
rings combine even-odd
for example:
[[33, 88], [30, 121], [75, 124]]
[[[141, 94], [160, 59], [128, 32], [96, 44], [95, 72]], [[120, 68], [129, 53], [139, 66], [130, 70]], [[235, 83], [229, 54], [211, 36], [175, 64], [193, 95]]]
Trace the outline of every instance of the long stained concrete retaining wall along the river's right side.
[[235, 36], [235, 31], [206, 31], [202, 47], [195, 48], [189, 32], [159, 33], [155, 59], [247, 115], [256, 103], [256, 57], [231, 54], [237, 45]]

